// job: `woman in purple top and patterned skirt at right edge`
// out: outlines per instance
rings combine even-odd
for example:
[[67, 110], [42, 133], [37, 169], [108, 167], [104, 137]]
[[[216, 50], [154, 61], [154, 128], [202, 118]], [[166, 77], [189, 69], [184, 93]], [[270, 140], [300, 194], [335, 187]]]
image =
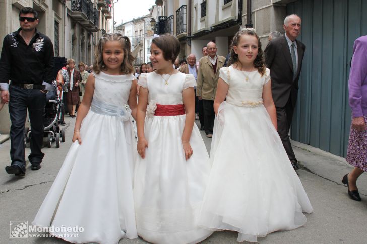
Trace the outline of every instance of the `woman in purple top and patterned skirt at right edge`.
[[352, 124], [346, 160], [355, 168], [343, 177], [342, 182], [347, 185], [350, 198], [361, 201], [356, 183], [367, 171], [367, 36], [354, 42], [348, 87]]

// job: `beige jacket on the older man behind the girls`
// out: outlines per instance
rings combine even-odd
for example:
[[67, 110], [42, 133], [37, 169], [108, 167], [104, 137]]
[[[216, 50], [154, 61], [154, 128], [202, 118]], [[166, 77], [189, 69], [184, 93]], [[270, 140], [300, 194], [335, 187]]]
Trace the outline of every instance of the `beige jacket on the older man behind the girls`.
[[217, 55], [217, 70], [213, 71], [212, 63], [209, 57], [205, 56], [199, 60], [198, 79], [196, 80], [196, 96], [205, 100], [214, 100], [217, 93], [217, 84], [219, 79], [219, 69], [223, 67], [225, 57]]

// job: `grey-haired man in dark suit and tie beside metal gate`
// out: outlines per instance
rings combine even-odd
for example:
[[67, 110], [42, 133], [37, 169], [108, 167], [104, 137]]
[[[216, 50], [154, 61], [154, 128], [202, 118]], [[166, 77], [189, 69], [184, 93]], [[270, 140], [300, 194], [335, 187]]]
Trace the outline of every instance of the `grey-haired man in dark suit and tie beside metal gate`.
[[265, 62], [270, 69], [278, 133], [294, 170], [297, 170], [297, 159], [288, 133], [297, 101], [298, 79], [306, 47], [296, 40], [301, 31], [299, 16], [293, 14], [285, 17], [283, 28], [285, 34], [270, 41], [266, 47]]

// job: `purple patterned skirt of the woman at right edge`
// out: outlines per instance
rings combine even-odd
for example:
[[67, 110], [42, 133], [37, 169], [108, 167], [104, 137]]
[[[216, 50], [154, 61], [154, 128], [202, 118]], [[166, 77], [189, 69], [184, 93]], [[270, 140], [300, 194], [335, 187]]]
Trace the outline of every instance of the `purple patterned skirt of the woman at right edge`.
[[[364, 116], [367, 124], [367, 116]], [[358, 132], [350, 126], [347, 162], [354, 167], [367, 171], [367, 130]]]

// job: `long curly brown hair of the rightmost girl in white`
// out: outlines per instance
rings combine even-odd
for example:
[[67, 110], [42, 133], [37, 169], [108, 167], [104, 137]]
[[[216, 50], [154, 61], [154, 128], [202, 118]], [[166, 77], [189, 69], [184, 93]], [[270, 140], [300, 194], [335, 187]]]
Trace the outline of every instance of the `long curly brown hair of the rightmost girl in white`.
[[233, 50], [233, 46], [238, 46], [238, 42], [239, 42], [239, 38], [241, 38], [242, 35], [250, 35], [250, 36], [255, 36], [258, 39], [258, 55], [256, 56], [255, 60], [254, 60], [254, 67], [258, 69], [258, 72], [261, 74], [261, 76], [263, 76], [265, 74], [265, 59], [264, 59], [264, 52], [263, 49], [261, 49], [261, 42], [260, 42], [260, 38], [258, 36], [258, 34], [256, 34], [255, 29], [254, 28], [243, 28], [241, 30], [239, 30], [233, 37], [233, 41], [231, 44], [231, 51], [230, 51], [230, 58], [228, 61], [228, 67], [235, 63], [238, 62], [238, 54], [236, 54]]

